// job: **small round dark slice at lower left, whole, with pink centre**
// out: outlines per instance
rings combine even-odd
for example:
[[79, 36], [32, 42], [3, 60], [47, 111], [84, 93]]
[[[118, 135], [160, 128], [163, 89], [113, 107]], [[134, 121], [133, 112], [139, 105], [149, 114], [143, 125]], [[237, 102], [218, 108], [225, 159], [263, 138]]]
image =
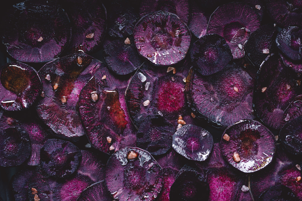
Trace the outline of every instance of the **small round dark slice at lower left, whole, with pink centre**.
[[82, 154], [74, 144], [57, 139], [47, 140], [41, 148], [41, 166], [56, 178], [73, 174], [81, 161]]

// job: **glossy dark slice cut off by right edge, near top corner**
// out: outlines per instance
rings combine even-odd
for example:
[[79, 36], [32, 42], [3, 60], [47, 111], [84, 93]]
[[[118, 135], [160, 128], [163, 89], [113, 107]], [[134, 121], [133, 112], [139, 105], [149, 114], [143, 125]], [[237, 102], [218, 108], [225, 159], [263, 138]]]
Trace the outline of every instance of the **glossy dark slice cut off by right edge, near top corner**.
[[277, 34], [276, 44], [284, 55], [297, 61], [302, 59], [301, 38], [302, 29], [300, 27], [288, 26]]

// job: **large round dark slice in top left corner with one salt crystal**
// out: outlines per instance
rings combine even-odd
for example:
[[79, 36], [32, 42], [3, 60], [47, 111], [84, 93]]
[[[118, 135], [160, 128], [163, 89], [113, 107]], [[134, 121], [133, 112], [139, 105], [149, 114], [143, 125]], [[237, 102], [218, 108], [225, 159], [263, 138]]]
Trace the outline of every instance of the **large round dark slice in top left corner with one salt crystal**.
[[21, 62], [48, 62], [66, 48], [71, 27], [65, 11], [54, 2], [25, 1], [9, 8], [2, 20], [3, 44]]

